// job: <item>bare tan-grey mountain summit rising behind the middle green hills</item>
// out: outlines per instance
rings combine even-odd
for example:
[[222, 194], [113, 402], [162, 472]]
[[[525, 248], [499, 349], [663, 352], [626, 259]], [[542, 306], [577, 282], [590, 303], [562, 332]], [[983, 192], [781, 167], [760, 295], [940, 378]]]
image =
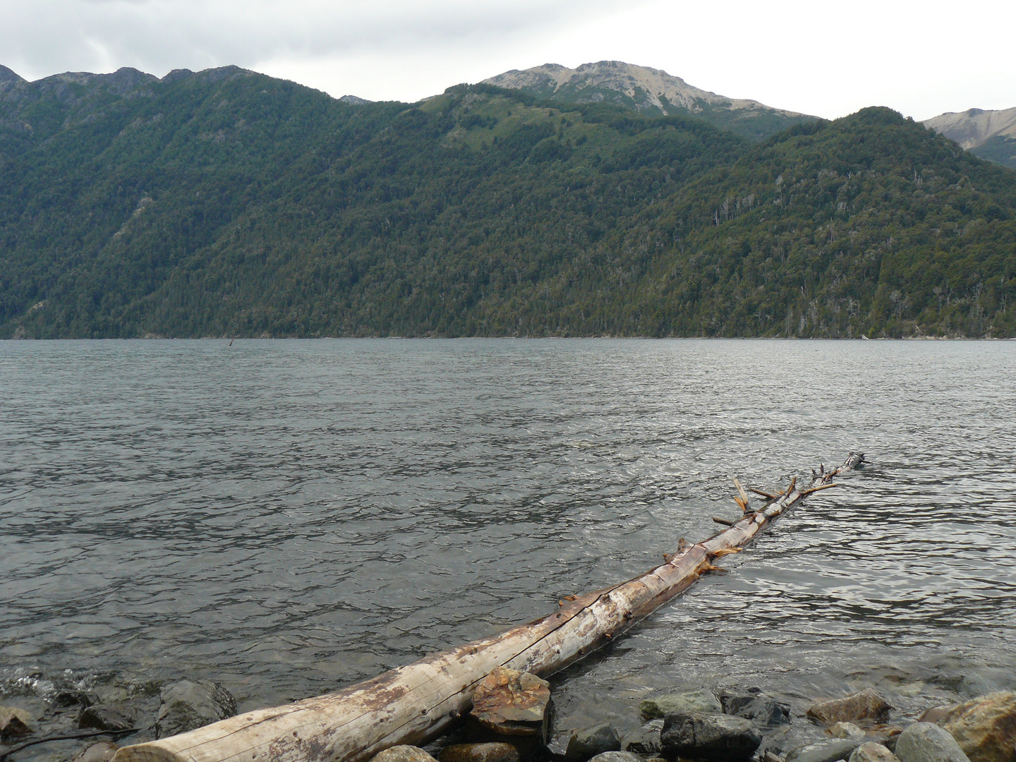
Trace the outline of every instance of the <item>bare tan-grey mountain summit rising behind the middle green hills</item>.
[[597, 61], [575, 69], [544, 64], [484, 81], [564, 103], [609, 103], [646, 116], [695, 116], [753, 139], [815, 119], [758, 101], [719, 96], [660, 69], [624, 61]]

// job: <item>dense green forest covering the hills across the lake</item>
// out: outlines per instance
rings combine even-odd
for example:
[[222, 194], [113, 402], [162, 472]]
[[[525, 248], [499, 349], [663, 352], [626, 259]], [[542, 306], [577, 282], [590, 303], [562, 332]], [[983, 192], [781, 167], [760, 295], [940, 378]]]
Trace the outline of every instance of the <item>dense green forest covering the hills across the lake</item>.
[[1016, 173], [886, 109], [0, 71], [0, 337], [1008, 336], [1014, 276]]

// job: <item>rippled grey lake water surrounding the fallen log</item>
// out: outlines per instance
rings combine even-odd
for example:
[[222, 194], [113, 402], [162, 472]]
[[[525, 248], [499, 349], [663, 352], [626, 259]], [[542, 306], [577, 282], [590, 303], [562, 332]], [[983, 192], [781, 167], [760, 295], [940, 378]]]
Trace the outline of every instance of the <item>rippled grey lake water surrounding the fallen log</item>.
[[[1016, 688], [1016, 342], [0, 342], [0, 698], [328, 692], [818, 494], [553, 679], [559, 732], [662, 689], [897, 715]], [[816, 736], [800, 719], [792, 734]]]

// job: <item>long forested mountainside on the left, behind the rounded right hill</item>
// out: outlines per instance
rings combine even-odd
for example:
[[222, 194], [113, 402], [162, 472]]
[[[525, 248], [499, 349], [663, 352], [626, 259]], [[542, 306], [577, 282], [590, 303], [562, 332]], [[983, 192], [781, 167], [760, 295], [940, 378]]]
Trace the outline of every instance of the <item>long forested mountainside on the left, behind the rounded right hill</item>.
[[567, 331], [574, 257], [746, 145], [490, 85], [350, 106], [236, 68], [137, 74], [5, 93], [0, 335], [519, 330], [486, 316], [496, 294]]

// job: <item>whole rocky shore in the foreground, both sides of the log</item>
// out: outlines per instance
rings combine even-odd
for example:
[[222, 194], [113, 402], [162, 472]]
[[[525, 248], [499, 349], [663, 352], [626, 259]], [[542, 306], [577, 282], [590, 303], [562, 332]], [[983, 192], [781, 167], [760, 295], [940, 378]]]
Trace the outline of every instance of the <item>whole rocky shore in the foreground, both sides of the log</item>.
[[[396, 746], [377, 762], [1014, 762], [1016, 692], [957, 701], [963, 681], [869, 687], [840, 697], [772, 696], [757, 687], [702, 687], [598, 706], [609, 721], [574, 727], [551, 684], [492, 674], [459, 726], [425, 748]], [[486, 686], [486, 687], [485, 687]], [[957, 690], [958, 689], [958, 690]], [[120, 746], [166, 738], [237, 713], [212, 681], [82, 685], [25, 676], [6, 685], [0, 755], [17, 762], [105, 762]], [[904, 700], [901, 700], [904, 699]], [[952, 699], [952, 701], [948, 701]], [[946, 703], [940, 703], [947, 700]], [[897, 704], [902, 705], [897, 706]], [[924, 707], [919, 712], [917, 708]], [[574, 707], [573, 707], [574, 708]], [[634, 711], [633, 711], [634, 709]], [[74, 737], [77, 738], [74, 738]], [[53, 740], [49, 740], [53, 739]], [[49, 740], [49, 741], [48, 741]]]

